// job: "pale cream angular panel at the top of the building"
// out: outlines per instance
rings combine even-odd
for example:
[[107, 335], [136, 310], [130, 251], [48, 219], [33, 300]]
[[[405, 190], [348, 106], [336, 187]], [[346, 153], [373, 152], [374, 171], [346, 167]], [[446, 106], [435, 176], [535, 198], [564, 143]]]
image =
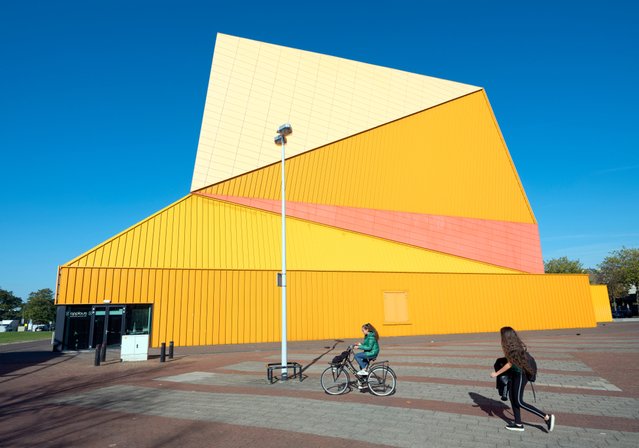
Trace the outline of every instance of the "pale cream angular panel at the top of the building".
[[191, 191], [479, 90], [479, 87], [218, 34]]

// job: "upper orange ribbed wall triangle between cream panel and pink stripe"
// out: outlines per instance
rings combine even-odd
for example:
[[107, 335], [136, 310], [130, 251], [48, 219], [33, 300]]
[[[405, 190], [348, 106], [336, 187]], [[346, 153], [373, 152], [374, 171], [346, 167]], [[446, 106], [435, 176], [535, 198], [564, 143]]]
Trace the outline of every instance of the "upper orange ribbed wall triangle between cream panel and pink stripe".
[[[279, 170], [203, 191], [279, 199]], [[535, 223], [483, 91], [293, 157], [286, 170], [291, 201]]]

